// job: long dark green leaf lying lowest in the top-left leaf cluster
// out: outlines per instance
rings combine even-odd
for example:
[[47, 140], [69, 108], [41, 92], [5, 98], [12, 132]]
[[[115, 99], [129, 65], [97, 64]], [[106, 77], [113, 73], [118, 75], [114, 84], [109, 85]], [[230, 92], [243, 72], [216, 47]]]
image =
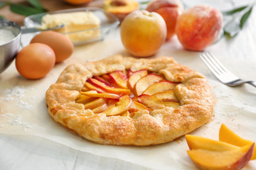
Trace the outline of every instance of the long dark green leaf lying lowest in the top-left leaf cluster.
[[30, 6], [23, 6], [19, 4], [10, 4], [10, 10], [14, 13], [18, 13], [22, 16], [31, 16], [37, 13], [44, 13], [46, 10], [42, 8], [33, 8]]

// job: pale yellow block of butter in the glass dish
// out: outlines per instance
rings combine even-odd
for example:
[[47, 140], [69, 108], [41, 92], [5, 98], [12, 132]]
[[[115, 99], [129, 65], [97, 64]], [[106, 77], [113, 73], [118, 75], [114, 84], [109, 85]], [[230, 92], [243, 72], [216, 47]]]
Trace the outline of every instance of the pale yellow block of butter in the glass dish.
[[90, 11], [46, 14], [42, 18], [42, 28], [54, 28], [65, 24], [56, 31], [68, 36], [73, 42], [93, 40], [100, 37], [100, 19]]

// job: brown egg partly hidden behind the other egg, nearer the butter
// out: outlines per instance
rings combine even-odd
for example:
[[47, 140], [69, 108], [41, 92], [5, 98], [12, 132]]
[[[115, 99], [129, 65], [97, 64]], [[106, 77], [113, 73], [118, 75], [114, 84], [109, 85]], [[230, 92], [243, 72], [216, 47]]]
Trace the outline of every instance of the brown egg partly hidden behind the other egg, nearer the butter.
[[42, 33], [39, 33], [33, 37], [31, 43], [34, 42], [49, 45], [55, 53], [55, 62], [63, 62], [70, 57], [74, 51], [74, 45], [70, 39], [61, 33], [56, 33], [51, 30], [43, 31]]

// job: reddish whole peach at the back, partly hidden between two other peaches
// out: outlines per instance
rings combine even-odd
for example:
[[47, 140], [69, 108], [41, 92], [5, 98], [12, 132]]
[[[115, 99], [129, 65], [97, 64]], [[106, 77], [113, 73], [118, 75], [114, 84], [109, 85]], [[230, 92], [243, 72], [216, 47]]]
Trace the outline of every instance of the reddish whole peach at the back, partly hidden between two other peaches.
[[166, 39], [170, 39], [175, 35], [176, 22], [183, 11], [183, 4], [179, 0], [154, 0], [146, 7], [146, 11], [159, 13], [164, 18]]

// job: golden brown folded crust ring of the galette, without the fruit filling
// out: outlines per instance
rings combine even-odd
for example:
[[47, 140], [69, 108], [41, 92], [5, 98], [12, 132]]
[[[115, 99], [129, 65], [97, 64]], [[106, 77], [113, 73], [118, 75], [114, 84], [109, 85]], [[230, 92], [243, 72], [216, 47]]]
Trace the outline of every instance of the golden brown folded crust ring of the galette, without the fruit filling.
[[[92, 113], [75, 103], [85, 81], [92, 76], [116, 70], [148, 69], [169, 81], [181, 82], [175, 94], [181, 103], [177, 109], [138, 111], [133, 118]], [[213, 97], [205, 77], [178, 64], [171, 57], [134, 59], [115, 55], [98, 62], [71, 64], [58, 81], [46, 91], [51, 117], [82, 137], [106, 145], [156, 145], [175, 140], [208, 123], [213, 116]]]

